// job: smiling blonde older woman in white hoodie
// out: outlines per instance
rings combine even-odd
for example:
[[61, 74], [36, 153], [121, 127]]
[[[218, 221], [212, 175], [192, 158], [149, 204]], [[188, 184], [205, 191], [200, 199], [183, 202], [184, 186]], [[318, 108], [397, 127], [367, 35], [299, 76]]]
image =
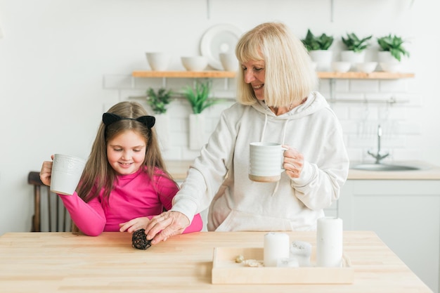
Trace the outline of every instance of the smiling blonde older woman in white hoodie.
[[[304, 45], [282, 23], [245, 33], [235, 48], [238, 103], [225, 110], [170, 211], [145, 230], [152, 244], [179, 233], [209, 207], [208, 230], [314, 230], [339, 198], [349, 158], [342, 127], [317, 86]], [[249, 145], [281, 143], [276, 183], [248, 178]]]

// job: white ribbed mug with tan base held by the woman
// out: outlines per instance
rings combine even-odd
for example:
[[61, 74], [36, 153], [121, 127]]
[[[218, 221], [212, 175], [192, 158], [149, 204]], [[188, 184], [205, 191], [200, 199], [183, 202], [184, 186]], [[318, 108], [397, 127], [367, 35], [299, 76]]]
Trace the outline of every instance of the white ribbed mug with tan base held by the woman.
[[250, 143], [249, 178], [257, 182], [280, 180], [283, 169], [283, 152], [280, 143]]

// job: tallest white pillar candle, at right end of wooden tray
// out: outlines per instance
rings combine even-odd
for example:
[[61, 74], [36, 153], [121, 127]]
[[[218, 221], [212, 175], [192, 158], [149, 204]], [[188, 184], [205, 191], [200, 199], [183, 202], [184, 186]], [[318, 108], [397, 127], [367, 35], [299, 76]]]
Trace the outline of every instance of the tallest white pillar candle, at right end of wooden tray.
[[318, 219], [316, 230], [316, 266], [341, 266], [342, 219], [325, 216]]

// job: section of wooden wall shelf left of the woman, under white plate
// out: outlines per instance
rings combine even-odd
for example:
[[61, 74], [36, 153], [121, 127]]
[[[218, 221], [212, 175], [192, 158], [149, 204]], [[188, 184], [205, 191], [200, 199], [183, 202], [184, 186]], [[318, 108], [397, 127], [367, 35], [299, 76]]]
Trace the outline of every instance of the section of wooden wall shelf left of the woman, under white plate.
[[233, 78], [233, 71], [134, 71], [133, 77]]

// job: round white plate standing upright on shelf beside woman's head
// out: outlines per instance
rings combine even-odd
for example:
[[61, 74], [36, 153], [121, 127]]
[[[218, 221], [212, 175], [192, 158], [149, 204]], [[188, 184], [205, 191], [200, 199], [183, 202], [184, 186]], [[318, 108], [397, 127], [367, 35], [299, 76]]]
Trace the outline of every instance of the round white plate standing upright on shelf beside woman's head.
[[208, 64], [216, 69], [223, 70], [220, 53], [234, 53], [235, 45], [241, 37], [241, 32], [233, 25], [214, 25], [202, 36], [200, 51], [208, 58]]

